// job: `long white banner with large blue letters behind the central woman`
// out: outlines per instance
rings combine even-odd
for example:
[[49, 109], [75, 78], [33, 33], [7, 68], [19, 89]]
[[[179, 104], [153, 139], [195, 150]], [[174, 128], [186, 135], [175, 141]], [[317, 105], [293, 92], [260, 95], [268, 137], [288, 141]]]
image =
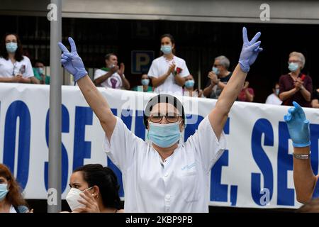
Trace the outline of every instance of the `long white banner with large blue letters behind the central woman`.
[[[145, 138], [142, 111], [154, 94], [99, 88], [114, 114]], [[216, 104], [179, 97], [188, 116], [184, 140]], [[211, 170], [210, 204], [254, 208], [298, 208], [293, 187], [292, 144], [284, 123], [288, 106], [235, 102], [224, 128], [227, 150]], [[49, 86], [0, 83], [0, 162], [8, 165], [26, 199], [46, 199]], [[311, 160], [318, 173], [318, 109], [310, 121]], [[89, 163], [121, 172], [102, 151], [103, 130], [79, 87], [62, 87], [62, 198], [74, 168]], [[123, 184], [120, 195], [123, 197]]]

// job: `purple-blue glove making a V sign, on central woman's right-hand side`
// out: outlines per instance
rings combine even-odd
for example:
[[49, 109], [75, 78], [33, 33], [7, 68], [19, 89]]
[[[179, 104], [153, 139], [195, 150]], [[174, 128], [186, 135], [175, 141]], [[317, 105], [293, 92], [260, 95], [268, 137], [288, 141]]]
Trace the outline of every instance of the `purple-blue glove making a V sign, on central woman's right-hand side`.
[[244, 44], [242, 45], [242, 52], [240, 53], [240, 60], [238, 62], [240, 63], [240, 68], [243, 72], [250, 71], [250, 65], [254, 63], [259, 52], [262, 52], [262, 48], [259, 48], [259, 45], [262, 42], [256, 42], [260, 35], [262, 35], [262, 33], [257, 33], [254, 35], [254, 38], [249, 41], [246, 28], [242, 28], [242, 40], [244, 41]]

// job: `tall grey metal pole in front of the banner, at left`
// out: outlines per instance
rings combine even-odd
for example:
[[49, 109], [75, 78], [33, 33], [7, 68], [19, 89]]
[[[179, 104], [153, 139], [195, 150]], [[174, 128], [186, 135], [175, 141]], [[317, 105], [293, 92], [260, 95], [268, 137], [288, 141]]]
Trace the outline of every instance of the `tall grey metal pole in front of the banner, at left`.
[[[49, 135], [49, 190], [47, 192], [47, 212], [61, 211], [61, 51], [57, 43], [61, 41], [61, 0], [51, 0], [50, 17], [50, 135]], [[49, 7], [48, 7], [49, 8]], [[49, 15], [48, 15], [49, 18]]]

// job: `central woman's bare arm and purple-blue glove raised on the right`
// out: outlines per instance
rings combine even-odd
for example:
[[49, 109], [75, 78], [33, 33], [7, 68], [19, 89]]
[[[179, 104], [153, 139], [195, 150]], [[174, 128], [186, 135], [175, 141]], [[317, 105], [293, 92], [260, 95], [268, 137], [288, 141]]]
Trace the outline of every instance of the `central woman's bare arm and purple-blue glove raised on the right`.
[[257, 42], [260, 35], [261, 33], [257, 33], [254, 35], [254, 38], [249, 41], [247, 38], [246, 28], [242, 28], [244, 44], [242, 45], [239, 64], [237, 64], [232, 77], [230, 77], [228, 84], [220, 94], [215, 108], [208, 115], [213, 131], [218, 139], [220, 138], [220, 134], [222, 133], [227, 121], [230, 108], [233, 106], [234, 101], [237, 99], [238, 94], [240, 94], [240, 91], [242, 90], [247, 72], [250, 70], [250, 65], [254, 63], [257, 59], [258, 53], [262, 51], [262, 48], [259, 48], [261, 42]]

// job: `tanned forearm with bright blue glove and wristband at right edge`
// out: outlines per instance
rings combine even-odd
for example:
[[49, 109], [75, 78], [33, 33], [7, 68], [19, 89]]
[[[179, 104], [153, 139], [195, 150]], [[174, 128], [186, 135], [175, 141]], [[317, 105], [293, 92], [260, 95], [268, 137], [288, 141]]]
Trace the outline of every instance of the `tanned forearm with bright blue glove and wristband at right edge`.
[[306, 203], [313, 195], [318, 177], [313, 174], [310, 163], [310, 129], [305, 112], [293, 101], [293, 106], [284, 116], [291, 140], [293, 140], [293, 182], [297, 200]]

